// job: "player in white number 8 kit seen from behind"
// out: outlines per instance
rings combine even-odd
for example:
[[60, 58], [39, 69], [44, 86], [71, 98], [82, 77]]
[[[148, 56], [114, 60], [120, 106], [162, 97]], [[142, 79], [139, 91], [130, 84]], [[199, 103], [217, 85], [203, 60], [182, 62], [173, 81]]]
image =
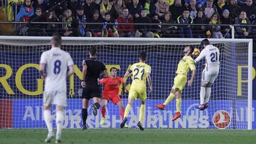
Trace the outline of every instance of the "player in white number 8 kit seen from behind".
[[[60, 35], [53, 35], [50, 40], [52, 48], [43, 52], [40, 60], [39, 72], [42, 79], [46, 81], [43, 92], [43, 116], [48, 128], [46, 142], [53, 138], [53, 122], [50, 114], [50, 106], [56, 105], [56, 139], [55, 143], [60, 143], [62, 124], [64, 121], [64, 107], [67, 106], [67, 84], [66, 79], [74, 73], [74, 63], [70, 54], [60, 50], [62, 43]], [[67, 69], [69, 69], [67, 73]]]

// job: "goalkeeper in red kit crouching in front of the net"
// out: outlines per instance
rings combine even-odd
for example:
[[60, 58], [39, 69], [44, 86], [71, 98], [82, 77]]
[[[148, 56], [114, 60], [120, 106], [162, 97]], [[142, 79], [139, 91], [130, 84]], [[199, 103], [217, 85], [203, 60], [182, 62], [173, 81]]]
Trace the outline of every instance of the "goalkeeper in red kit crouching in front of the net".
[[106, 106], [109, 101], [112, 101], [114, 105], [119, 106], [120, 115], [122, 120], [124, 119], [124, 104], [119, 96], [119, 87], [122, 85], [122, 92], [125, 91], [124, 80], [122, 77], [117, 76], [117, 68], [112, 67], [110, 69], [110, 77], [103, 78], [100, 80], [100, 84], [104, 84], [104, 91], [102, 93], [102, 101], [101, 101], [101, 113], [102, 119], [100, 124], [103, 125], [105, 123], [105, 112]]

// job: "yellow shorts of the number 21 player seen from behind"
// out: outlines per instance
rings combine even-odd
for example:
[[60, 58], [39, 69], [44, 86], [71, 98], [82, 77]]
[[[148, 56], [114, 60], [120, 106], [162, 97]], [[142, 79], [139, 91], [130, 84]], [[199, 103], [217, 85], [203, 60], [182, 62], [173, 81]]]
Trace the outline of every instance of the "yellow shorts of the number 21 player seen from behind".
[[139, 99], [141, 101], [146, 100], [146, 88], [131, 87], [129, 90], [129, 98]]

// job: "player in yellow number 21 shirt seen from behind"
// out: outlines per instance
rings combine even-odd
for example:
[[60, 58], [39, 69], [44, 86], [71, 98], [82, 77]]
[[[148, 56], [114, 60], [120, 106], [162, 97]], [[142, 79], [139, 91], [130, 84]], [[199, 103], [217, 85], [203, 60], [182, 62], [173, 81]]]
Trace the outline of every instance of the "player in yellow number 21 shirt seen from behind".
[[137, 126], [141, 131], [144, 131], [144, 128], [142, 126], [142, 122], [144, 121], [144, 115], [146, 111], [146, 79], [149, 83], [149, 92], [152, 92], [152, 82], [151, 82], [151, 67], [149, 65], [146, 65], [146, 53], [141, 52], [139, 55], [139, 62], [134, 63], [134, 65], [131, 66], [129, 71], [124, 74], [124, 77], [130, 77], [132, 76], [132, 86], [129, 90], [129, 97], [128, 97], [128, 104], [124, 111], [124, 119], [120, 125], [120, 128], [124, 128], [124, 125], [127, 122], [127, 116], [129, 114], [130, 109], [132, 108], [132, 102], [134, 99], [139, 99], [142, 101], [142, 105], [139, 109], [139, 122], [137, 123]]

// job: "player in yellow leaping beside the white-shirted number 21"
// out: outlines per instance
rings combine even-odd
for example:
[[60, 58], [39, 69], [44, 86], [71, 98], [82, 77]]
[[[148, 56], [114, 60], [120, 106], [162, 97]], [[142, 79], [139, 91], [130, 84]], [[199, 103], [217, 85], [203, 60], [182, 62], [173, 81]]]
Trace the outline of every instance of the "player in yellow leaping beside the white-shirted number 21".
[[156, 108], [164, 110], [164, 107], [169, 104], [169, 102], [176, 98], [176, 113], [175, 116], [172, 118], [172, 121], [175, 121], [177, 118], [181, 117], [181, 92], [185, 87], [187, 82], [187, 74], [189, 70], [192, 71], [191, 79], [188, 80], [188, 87], [191, 87], [193, 83], [193, 79], [196, 76], [196, 67], [191, 54], [194, 48], [192, 46], [186, 46], [183, 50], [184, 56], [178, 62], [178, 68], [176, 70], [176, 77], [174, 78], [174, 86], [171, 88], [171, 93], [164, 102], [164, 104], [156, 105]]

